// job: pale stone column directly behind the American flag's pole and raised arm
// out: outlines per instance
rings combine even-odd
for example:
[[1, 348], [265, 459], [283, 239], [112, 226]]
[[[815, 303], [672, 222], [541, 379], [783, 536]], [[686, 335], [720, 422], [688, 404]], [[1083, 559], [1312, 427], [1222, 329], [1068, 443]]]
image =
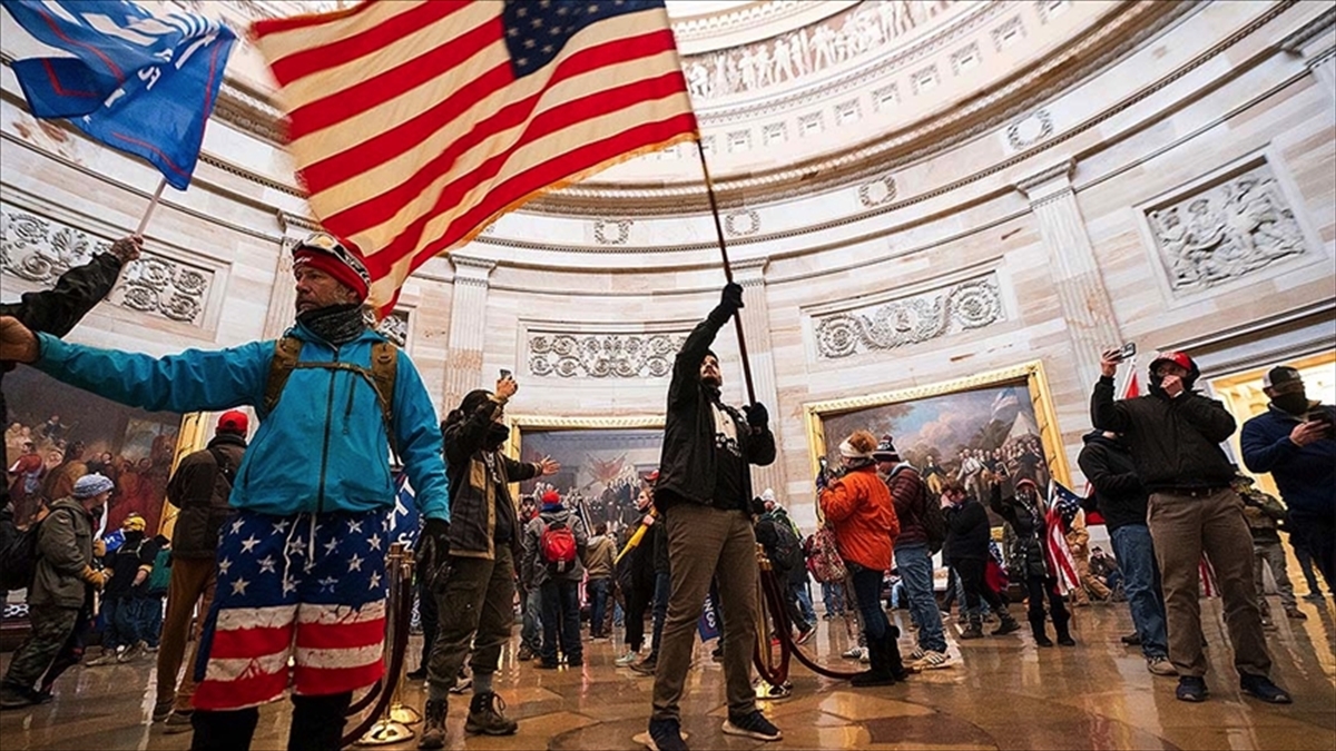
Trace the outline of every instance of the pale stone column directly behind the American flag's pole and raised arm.
[[[779, 388], [775, 378], [775, 353], [770, 341], [770, 305], [766, 298], [766, 266], [768, 258], [756, 258], [733, 263], [733, 281], [743, 286], [743, 302], [739, 311], [743, 334], [747, 337], [747, 357], [752, 369], [752, 386], [756, 388], [756, 401], [770, 410], [770, 429], [775, 442], [783, 445], [784, 416], [779, 408]], [[780, 501], [791, 505], [783, 497], [784, 462], [779, 458], [770, 466], [752, 468], [752, 489], [759, 496], [766, 488], [774, 488]]]

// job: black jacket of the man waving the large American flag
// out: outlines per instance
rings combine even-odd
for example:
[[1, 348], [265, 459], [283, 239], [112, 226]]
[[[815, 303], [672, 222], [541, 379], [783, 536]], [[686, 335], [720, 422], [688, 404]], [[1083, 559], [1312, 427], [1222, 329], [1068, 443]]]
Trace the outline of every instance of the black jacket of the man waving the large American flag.
[[775, 461], [775, 436], [770, 426], [751, 426], [727, 408], [737, 430], [741, 449], [741, 494], [737, 498], [712, 498], [715, 494], [715, 389], [700, 382], [700, 363], [719, 329], [728, 322], [731, 310], [719, 306], [701, 321], [683, 343], [673, 362], [672, 384], [668, 386], [668, 416], [664, 425], [664, 448], [659, 460], [659, 481], [655, 484], [655, 504], [671, 508], [687, 501], [736, 508], [748, 513], [752, 489], [751, 472], [745, 465], [766, 466]]

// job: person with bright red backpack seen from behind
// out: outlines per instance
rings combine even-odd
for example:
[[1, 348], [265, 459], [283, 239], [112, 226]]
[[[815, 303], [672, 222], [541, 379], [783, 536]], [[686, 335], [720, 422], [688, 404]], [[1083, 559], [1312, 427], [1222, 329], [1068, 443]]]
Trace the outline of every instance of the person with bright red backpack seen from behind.
[[584, 520], [561, 502], [556, 490], [542, 496], [538, 516], [529, 520], [524, 531], [521, 576], [529, 587], [538, 589], [542, 604], [542, 651], [538, 667], [554, 669], [557, 645], [566, 665], [584, 665], [584, 644], [580, 639], [580, 580], [584, 579], [585, 551], [589, 532]]

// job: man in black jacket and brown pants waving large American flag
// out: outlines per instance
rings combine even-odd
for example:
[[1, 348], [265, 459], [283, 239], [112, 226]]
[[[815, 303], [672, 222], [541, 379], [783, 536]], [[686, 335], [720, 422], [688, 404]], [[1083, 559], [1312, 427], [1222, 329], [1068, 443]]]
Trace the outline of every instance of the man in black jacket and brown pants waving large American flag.
[[681, 751], [680, 702], [696, 640], [696, 621], [711, 580], [719, 585], [724, 617], [724, 683], [728, 719], [723, 731], [756, 740], [783, 735], [756, 708], [751, 659], [756, 645], [756, 536], [751, 525], [749, 464], [775, 461], [775, 436], [760, 404], [745, 417], [720, 401], [724, 384], [709, 345], [743, 306], [743, 287], [729, 282], [723, 299], [687, 337], [668, 386], [664, 446], [655, 505], [664, 514], [672, 595], [655, 671], [649, 740], [659, 751]]

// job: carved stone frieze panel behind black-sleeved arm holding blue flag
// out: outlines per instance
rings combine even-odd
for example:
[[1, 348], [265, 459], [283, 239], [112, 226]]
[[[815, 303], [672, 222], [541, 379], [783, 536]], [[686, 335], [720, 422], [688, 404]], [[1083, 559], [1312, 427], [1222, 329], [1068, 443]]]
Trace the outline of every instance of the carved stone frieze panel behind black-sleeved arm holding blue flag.
[[[71, 267], [111, 247], [110, 239], [12, 206], [0, 204], [0, 270], [37, 285], [55, 285]], [[155, 254], [151, 247], [126, 266], [107, 302], [199, 326], [214, 270]]]

